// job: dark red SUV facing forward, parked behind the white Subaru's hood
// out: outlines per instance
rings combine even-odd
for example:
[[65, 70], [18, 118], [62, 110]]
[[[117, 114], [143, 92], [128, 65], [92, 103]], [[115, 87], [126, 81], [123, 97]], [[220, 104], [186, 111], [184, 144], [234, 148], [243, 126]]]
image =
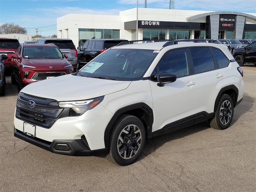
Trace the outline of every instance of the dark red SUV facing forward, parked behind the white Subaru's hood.
[[12, 55], [11, 81], [20, 91], [25, 85], [73, 73], [68, 56], [54, 44], [22, 44]]

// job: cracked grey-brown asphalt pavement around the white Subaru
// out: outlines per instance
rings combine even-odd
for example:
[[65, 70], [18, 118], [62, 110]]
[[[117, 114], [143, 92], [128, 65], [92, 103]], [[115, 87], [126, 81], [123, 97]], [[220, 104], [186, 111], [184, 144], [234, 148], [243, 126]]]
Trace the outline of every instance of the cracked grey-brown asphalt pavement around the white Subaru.
[[256, 191], [256, 67], [244, 67], [245, 93], [226, 130], [207, 123], [146, 141], [132, 165], [102, 156], [53, 154], [13, 136], [17, 85], [0, 98], [0, 191]]

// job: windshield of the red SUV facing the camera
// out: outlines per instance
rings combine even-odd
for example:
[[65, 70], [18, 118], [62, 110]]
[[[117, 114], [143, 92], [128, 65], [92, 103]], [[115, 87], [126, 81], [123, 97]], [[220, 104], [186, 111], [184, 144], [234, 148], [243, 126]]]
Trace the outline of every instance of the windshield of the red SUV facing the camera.
[[56, 47], [24, 47], [23, 58], [27, 59], [61, 59], [63, 58], [62, 53]]

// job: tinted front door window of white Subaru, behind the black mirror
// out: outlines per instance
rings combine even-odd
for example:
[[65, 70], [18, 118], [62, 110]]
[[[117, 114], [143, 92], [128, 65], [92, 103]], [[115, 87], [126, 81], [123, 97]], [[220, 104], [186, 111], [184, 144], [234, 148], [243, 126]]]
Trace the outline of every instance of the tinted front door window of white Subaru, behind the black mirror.
[[159, 75], [163, 72], [175, 74], [177, 78], [188, 75], [188, 59], [185, 49], [167, 52], [159, 61]]

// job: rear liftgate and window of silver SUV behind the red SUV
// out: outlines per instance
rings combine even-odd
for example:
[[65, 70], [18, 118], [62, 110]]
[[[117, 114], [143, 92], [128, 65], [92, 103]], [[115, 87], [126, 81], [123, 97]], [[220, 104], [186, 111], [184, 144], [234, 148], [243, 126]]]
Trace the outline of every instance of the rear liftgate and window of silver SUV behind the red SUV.
[[68, 61], [74, 61], [76, 55], [76, 48], [72, 40], [46, 40], [45, 44], [53, 43], [55, 44], [61, 52], [68, 55]]

